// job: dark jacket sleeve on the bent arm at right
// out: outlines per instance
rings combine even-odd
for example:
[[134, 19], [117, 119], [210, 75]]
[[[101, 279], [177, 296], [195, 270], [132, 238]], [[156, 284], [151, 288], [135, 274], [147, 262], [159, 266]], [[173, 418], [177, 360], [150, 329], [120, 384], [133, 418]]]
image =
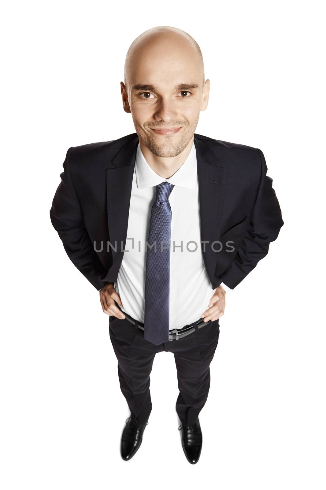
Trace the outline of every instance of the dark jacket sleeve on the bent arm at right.
[[256, 148], [261, 163], [261, 176], [249, 228], [230, 266], [220, 274], [223, 283], [234, 289], [267, 253], [283, 226], [279, 201], [267, 175], [263, 152]]

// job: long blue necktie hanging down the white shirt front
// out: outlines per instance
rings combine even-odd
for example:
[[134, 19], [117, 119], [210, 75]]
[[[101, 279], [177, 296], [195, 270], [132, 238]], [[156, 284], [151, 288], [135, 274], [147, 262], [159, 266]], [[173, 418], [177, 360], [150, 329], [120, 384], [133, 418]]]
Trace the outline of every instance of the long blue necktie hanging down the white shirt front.
[[156, 186], [146, 244], [144, 339], [155, 345], [169, 340], [172, 213], [168, 198], [173, 187], [166, 181]]

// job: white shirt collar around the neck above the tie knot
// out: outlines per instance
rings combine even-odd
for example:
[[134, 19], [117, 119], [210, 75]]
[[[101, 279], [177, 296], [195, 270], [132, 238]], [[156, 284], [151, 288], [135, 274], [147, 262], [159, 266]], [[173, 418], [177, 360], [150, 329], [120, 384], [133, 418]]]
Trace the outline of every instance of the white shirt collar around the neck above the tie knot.
[[197, 155], [194, 142], [190, 152], [186, 158], [186, 161], [182, 164], [180, 169], [177, 170], [168, 179], [160, 177], [154, 170], [148, 165], [144, 155], [140, 149], [140, 143], [138, 143], [135, 161], [136, 181], [137, 187], [142, 189], [144, 187], [154, 187], [161, 182], [169, 182], [170, 184], [186, 187], [186, 189], [195, 189], [197, 182]]

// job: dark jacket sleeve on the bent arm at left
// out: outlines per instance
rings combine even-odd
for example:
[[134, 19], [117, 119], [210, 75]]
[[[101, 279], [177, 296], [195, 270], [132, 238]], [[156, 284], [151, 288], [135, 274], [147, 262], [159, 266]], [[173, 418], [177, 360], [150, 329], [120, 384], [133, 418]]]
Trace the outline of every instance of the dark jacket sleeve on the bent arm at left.
[[107, 270], [94, 250], [71, 180], [69, 162], [72, 148], [68, 149], [63, 163], [64, 172], [60, 174], [61, 182], [52, 201], [50, 219], [71, 262], [97, 290], [100, 290], [106, 284], [100, 277], [103, 277]]

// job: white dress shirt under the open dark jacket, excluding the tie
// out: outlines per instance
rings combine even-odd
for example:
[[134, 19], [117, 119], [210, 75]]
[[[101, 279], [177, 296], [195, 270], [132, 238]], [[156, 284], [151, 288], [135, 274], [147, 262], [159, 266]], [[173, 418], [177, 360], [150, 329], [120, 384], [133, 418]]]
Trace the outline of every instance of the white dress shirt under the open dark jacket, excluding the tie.
[[[172, 330], [200, 319], [215, 293], [205, 269], [200, 244], [199, 191], [194, 143], [184, 164], [167, 179], [151, 169], [138, 144], [125, 252], [114, 287], [123, 304], [121, 309], [143, 323], [146, 242], [152, 204], [156, 198], [155, 186], [165, 181], [174, 185], [169, 196], [172, 211], [169, 329]], [[159, 250], [161, 244], [158, 243], [157, 246]]]

